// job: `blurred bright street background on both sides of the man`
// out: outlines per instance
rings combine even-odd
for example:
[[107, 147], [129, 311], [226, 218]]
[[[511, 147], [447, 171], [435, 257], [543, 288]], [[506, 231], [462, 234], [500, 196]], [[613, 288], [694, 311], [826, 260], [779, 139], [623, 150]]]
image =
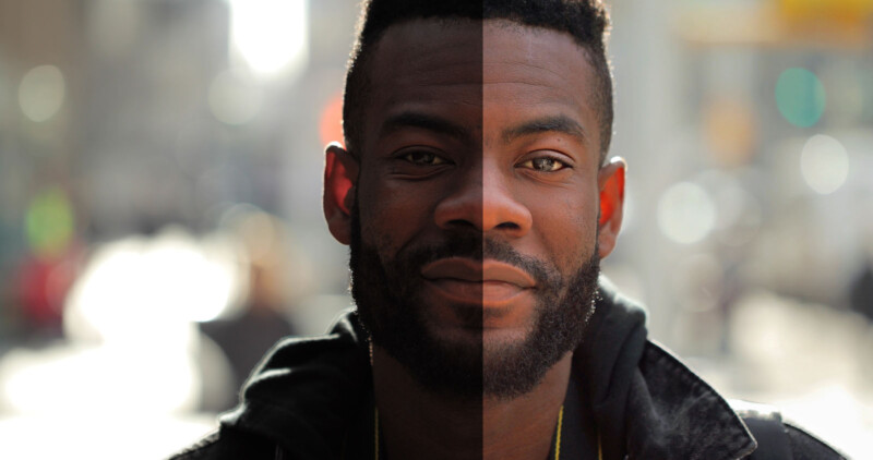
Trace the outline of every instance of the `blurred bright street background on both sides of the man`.
[[[871, 456], [873, 0], [608, 3], [603, 271], [717, 389]], [[321, 172], [357, 12], [0, 0], [0, 457], [166, 456], [349, 305]]]

